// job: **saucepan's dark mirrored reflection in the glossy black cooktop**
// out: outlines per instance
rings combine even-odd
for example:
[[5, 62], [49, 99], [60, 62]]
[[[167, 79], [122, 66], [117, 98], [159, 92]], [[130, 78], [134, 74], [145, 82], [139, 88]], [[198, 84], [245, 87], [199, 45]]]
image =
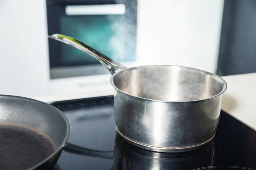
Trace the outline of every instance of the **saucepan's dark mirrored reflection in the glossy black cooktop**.
[[185, 153], [159, 153], [144, 150], [126, 142], [117, 133], [114, 151], [114, 170], [192, 170], [214, 164], [215, 144]]

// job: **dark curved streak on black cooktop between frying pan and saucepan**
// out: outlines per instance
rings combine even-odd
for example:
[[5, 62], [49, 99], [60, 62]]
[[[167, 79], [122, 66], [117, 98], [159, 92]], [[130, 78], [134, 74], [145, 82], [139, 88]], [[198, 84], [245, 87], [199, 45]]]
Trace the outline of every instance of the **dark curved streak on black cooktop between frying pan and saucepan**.
[[75, 153], [84, 156], [93, 156], [105, 159], [113, 159], [114, 151], [101, 151], [101, 150], [92, 150], [85, 147], [76, 146], [74, 144], [66, 143], [63, 147], [63, 150]]

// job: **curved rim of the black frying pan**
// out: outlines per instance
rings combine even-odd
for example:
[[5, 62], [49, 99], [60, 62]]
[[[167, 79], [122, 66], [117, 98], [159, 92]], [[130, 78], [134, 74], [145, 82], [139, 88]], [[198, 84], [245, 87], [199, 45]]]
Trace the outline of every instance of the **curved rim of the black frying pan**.
[[49, 156], [47, 156], [44, 160], [42, 160], [41, 162], [39, 162], [38, 164], [36, 164], [35, 166], [29, 168], [28, 170], [34, 170], [38, 167], [40, 167], [42, 164], [44, 164], [45, 162], [49, 161], [49, 159], [51, 159], [52, 157], [54, 157], [56, 154], [58, 154], [62, 148], [64, 147], [64, 145], [67, 143], [67, 139], [69, 138], [70, 136], [70, 122], [69, 120], [67, 119], [67, 116], [62, 112], [60, 111], [59, 109], [55, 108], [54, 106], [52, 105], [49, 105], [48, 103], [45, 103], [45, 102], [41, 102], [39, 100], [36, 100], [36, 99], [31, 99], [31, 98], [27, 98], [27, 97], [22, 97], [22, 96], [12, 96], [12, 95], [3, 95], [1, 94], [0, 95], [0, 99], [1, 98], [10, 98], [10, 99], [19, 99], [19, 100], [24, 100], [24, 101], [31, 101], [31, 102], [36, 102], [38, 104], [42, 104], [42, 105], [45, 105], [46, 107], [52, 109], [53, 111], [55, 111], [55, 113], [58, 113], [63, 119], [64, 119], [64, 122], [66, 123], [67, 127], [66, 127], [66, 130], [67, 130], [67, 133], [64, 137], [64, 140], [63, 142], [61, 142], [61, 144], [56, 148], [56, 150]]

